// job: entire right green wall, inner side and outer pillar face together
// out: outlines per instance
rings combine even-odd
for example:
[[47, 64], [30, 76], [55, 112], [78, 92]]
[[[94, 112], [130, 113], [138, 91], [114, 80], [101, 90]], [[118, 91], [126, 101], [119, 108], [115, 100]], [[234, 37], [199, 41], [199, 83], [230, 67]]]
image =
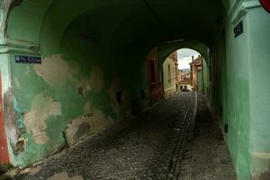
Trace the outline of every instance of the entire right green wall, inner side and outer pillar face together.
[[[270, 16], [257, 1], [238, 1], [231, 9], [225, 28], [226, 48], [221, 36], [213, 48], [211, 104], [220, 116], [221, 126], [229, 125], [227, 140], [238, 178], [264, 179], [269, 176], [266, 47]], [[233, 29], [240, 21], [244, 33], [235, 38]]]

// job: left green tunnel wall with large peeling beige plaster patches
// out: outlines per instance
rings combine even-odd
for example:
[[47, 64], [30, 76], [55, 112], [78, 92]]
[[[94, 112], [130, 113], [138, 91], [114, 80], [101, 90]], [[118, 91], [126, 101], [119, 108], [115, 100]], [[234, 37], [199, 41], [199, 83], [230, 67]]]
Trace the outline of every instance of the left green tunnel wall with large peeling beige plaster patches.
[[[23, 14], [30, 4], [23, 2], [14, 14]], [[17, 20], [11, 17], [10, 27], [15, 27], [14, 21]], [[31, 36], [31, 31], [8, 29], [14, 38], [38, 41], [38, 33]], [[85, 40], [79, 36], [82, 31], [88, 33], [89, 27], [85, 27], [84, 21], [77, 21], [68, 26], [58, 49], [40, 49], [41, 55], [8, 55], [10, 85], [4, 91], [8, 108], [5, 121], [10, 121], [6, 129], [14, 166], [27, 166], [55, 154], [132, 115], [134, 106], [139, 110], [145, 107], [145, 59], [134, 56], [127, 61], [126, 55], [108, 58], [103, 42]], [[53, 37], [46, 38], [53, 41]], [[14, 55], [18, 54], [41, 56], [42, 64], [15, 63]], [[145, 91], [145, 99], [140, 97], [141, 90]], [[120, 102], [117, 94], [121, 94]]]

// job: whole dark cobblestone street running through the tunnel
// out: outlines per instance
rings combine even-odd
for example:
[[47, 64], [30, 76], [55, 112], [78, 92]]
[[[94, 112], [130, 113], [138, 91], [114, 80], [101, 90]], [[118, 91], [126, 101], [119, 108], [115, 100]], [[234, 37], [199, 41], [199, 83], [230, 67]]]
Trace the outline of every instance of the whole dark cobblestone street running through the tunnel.
[[175, 94], [14, 179], [235, 180], [217, 123], [202, 95]]

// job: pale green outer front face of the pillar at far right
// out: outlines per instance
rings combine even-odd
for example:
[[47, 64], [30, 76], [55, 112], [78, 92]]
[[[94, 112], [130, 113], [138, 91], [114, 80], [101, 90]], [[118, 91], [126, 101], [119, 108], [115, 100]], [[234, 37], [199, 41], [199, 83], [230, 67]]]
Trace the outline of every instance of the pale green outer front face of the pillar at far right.
[[[258, 21], [259, 20], [259, 21]], [[270, 176], [270, 15], [262, 8], [247, 14], [250, 92], [251, 174]]]

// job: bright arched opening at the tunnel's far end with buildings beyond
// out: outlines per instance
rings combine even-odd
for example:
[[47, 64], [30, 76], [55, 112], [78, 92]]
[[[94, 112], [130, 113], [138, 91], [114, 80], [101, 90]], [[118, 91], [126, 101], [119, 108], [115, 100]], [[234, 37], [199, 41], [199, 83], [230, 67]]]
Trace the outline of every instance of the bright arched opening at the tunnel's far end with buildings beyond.
[[194, 49], [177, 49], [163, 61], [161, 76], [165, 98], [176, 92], [210, 94], [209, 59]]

